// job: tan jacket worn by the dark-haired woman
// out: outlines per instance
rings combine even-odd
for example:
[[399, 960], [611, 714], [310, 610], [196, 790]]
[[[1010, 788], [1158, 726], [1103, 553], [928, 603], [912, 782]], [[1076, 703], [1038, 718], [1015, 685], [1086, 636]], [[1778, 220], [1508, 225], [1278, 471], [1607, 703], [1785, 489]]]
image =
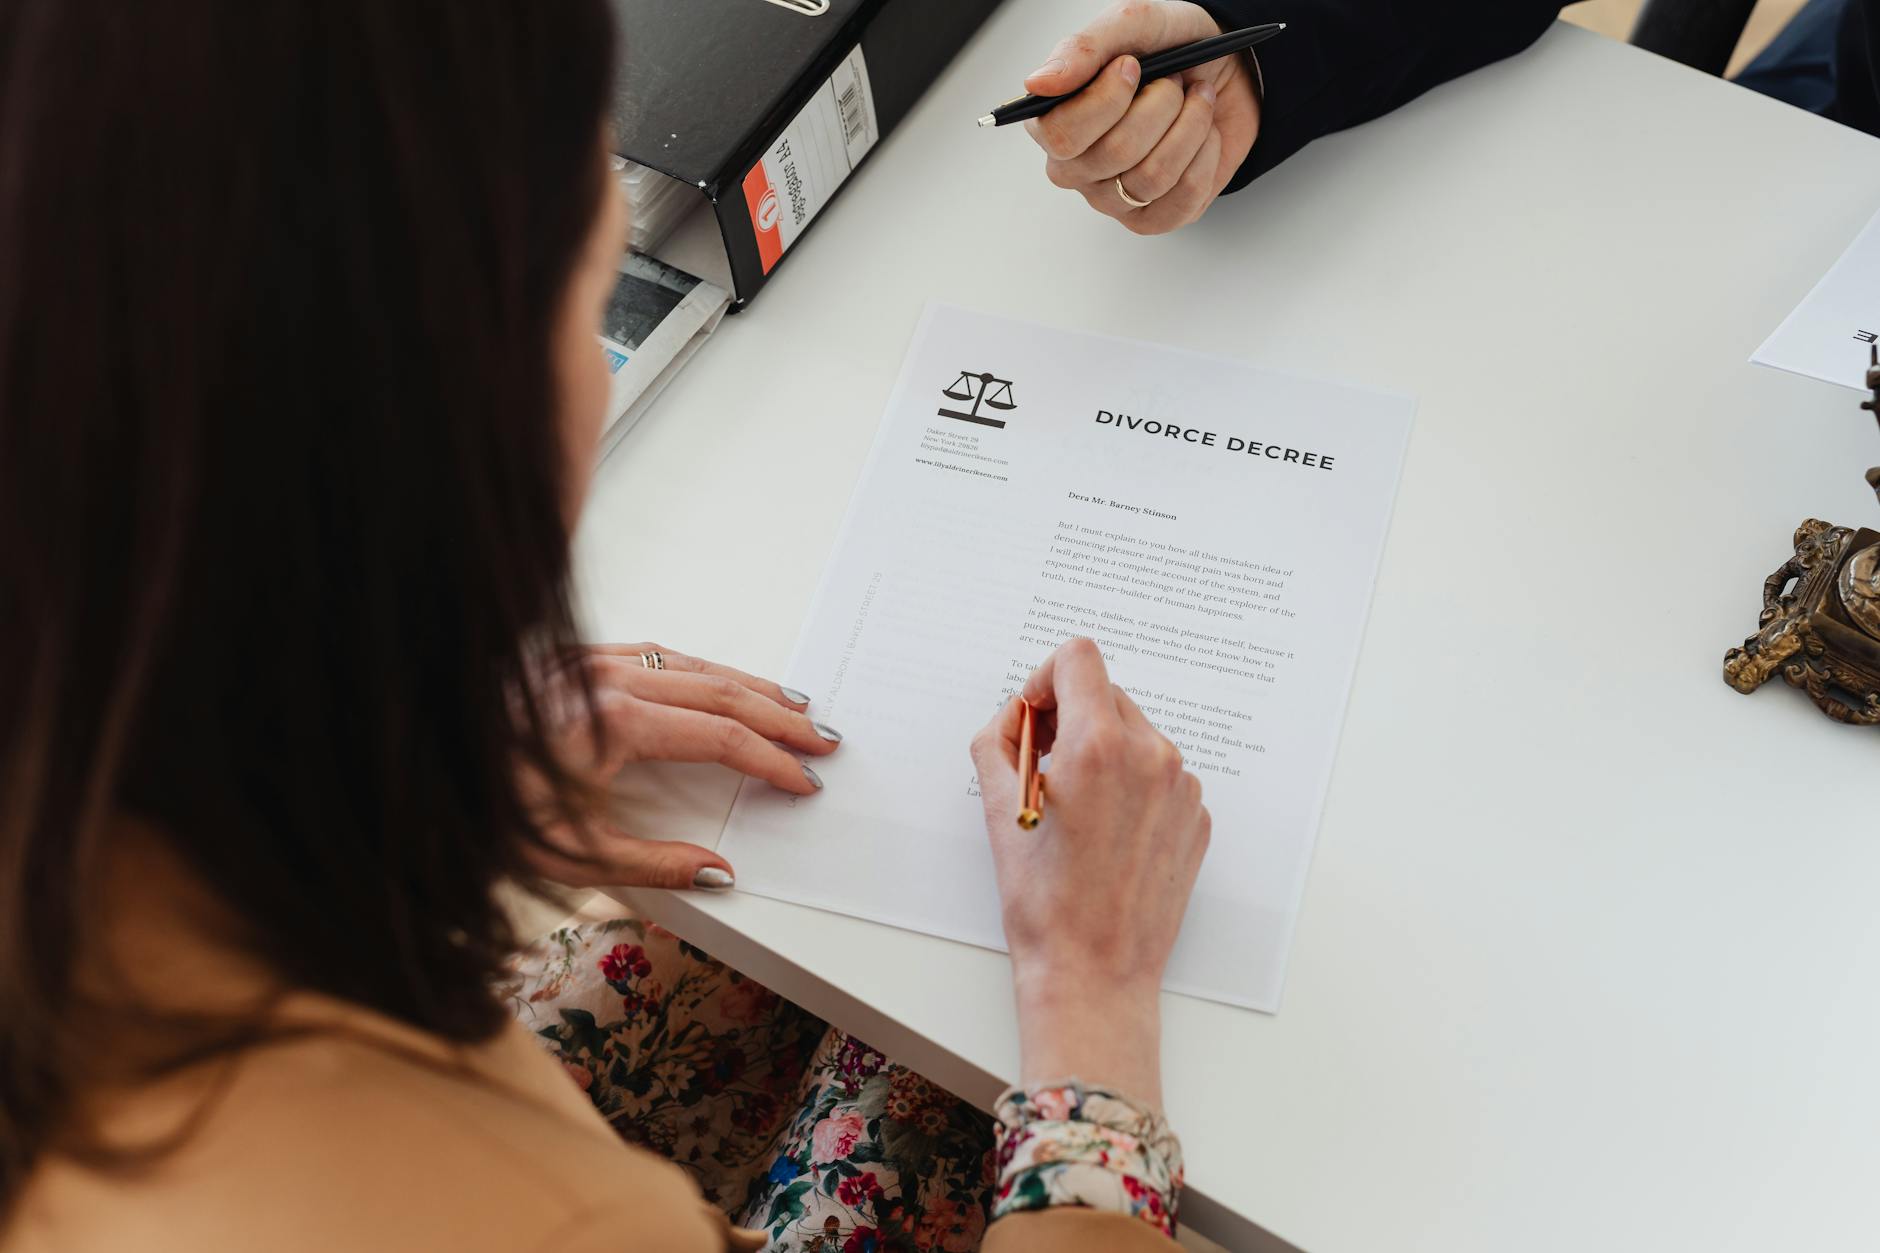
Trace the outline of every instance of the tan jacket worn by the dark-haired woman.
[[[154, 890], [160, 882], [175, 892]], [[115, 969], [135, 969], [143, 990], [188, 988], [197, 1005], [227, 1005], [218, 997], [265, 980], [239, 956], [190, 939], [194, 911], [212, 903], [167, 871], [145, 864], [107, 896]], [[190, 1112], [207, 1114], [135, 1172], [41, 1159], [0, 1229], [0, 1253], [763, 1245], [707, 1206], [679, 1166], [622, 1144], [521, 1027], [457, 1048], [310, 993], [290, 995], [280, 1018], [321, 1029], [162, 1084], [86, 1093], [113, 1144], [149, 1144], [182, 1129]], [[1004, 1219], [983, 1247], [1173, 1249], [1136, 1219], [1081, 1210]]]

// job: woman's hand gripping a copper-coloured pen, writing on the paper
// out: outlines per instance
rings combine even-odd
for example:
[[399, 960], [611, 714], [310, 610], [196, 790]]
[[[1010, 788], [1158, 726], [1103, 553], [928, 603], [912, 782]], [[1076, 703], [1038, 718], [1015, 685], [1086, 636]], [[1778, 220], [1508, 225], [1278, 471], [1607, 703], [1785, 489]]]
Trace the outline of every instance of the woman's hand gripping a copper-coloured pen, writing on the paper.
[[1160, 988], [1207, 852], [1201, 783], [1090, 640], [1026, 679], [1051, 753], [1045, 817], [1017, 824], [1021, 706], [972, 741], [1019, 995], [1023, 1080], [1077, 1076], [1160, 1104]]

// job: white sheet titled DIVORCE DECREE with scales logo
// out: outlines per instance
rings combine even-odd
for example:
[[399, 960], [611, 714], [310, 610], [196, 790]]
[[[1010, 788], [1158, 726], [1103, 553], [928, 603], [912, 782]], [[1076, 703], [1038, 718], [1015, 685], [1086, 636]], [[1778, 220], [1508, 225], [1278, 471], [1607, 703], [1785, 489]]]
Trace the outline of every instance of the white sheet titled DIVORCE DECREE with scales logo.
[[786, 675], [842, 751], [746, 781], [739, 888], [1004, 948], [966, 745], [1090, 636], [1214, 818], [1167, 986], [1278, 1008], [1412, 414], [929, 307]]

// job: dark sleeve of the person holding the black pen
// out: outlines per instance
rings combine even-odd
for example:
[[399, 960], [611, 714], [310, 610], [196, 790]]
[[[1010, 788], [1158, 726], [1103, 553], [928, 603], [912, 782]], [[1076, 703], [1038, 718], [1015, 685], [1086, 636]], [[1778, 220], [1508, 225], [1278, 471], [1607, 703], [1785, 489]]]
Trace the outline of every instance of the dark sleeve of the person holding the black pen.
[[1431, 87], [1512, 56], [1538, 40], [1560, 0], [1199, 0], [1222, 30], [1286, 23], [1254, 49], [1263, 98], [1260, 137], [1228, 190], [1346, 126], [1369, 122]]

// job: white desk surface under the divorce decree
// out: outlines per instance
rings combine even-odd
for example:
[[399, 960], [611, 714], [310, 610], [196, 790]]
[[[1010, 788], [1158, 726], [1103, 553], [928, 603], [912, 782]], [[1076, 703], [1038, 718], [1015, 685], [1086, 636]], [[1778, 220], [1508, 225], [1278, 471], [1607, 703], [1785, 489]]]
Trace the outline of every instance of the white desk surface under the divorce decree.
[[[1004, 6], [602, 468], [596, 638], [782, 677], [929, 297], [1412, 391], [1284, 1007], [1164, 999], [1184, 1215], [1880, 1247], [1880, 739], [1720, 679], [1795, 523], [1876, 517], [1856, 395], [1747, 357], [1880, 203], [1880, 141], [1559, 26], [1136, 239], [972, 124], [1089, 8]], [[731, 788], [667, 783], [660, 833], [713, 843]], [[998, 954], [630, 896], [970, 1099], [1015, 1071]]]

